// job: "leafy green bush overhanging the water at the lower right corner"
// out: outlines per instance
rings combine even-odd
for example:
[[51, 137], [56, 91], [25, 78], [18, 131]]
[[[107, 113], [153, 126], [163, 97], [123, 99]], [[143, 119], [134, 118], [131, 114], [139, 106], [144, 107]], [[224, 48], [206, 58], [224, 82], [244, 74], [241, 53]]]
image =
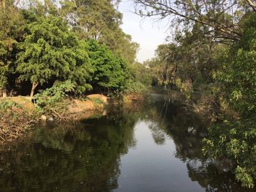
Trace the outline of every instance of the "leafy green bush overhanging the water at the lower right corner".
[[224, 120], [209, 128], [203, 151], [212, 158], [228, 158], [236, 167], [236, 179], [252, 188], [256, 179], [255, 118]]

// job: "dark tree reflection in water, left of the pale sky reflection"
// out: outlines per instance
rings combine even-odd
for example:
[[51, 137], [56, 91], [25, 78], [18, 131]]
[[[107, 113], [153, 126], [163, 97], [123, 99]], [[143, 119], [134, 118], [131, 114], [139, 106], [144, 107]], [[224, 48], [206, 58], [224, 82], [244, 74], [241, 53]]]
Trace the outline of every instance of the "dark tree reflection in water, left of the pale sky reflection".
[[37, 128], [31, 137], [1, 152], [1, 191], [117, 188], [119, 156], [135, 145], [134, 123], [101, 118]]

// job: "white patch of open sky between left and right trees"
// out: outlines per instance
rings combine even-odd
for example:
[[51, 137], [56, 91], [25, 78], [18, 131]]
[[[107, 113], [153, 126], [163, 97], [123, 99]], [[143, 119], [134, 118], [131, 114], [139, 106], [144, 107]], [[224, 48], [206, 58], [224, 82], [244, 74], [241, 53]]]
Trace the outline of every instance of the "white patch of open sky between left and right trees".
[[132, 13], [134, 10], [133, 0], [122, 0], [118, 7], [123, 13], [124, 32], [132, 36], [132, 40], [140, 44], [138, 52], [138, 61], [146, 61], [154, 57], [154, 50], [157, 45], [165, 42], [167, 36], [167, 22], [157, 23], [150, 18], [140, 18]]

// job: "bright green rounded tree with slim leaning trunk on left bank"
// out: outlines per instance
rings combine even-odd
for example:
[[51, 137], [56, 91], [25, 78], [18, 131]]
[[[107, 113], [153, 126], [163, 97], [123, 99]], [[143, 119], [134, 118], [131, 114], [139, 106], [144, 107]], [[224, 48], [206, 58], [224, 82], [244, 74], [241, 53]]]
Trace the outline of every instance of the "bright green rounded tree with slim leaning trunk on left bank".
[[21, 80], [32, 83], [30, 96], [37, 85], [49, 80], [73, 80], [83, 85], [80, 91], [90, 88], [86, 85], [89, 73], [89, 57], [83, 42], [79, 42], [67, 23], [61, 18], [49, 15], [28, 23], [28, 34], [20, 42], [17, 71]]

